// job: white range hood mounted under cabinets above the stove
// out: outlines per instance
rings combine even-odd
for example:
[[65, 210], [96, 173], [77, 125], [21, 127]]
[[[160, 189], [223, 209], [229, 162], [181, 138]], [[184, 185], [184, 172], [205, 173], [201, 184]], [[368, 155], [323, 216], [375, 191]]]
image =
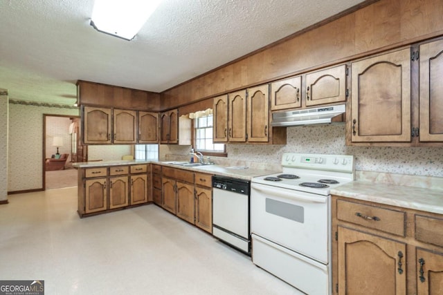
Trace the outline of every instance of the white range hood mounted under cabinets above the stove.
[[273, 113], [271, 126], [300, 126], [344, 123], [345, 104], [308, 108], [300, 111]]

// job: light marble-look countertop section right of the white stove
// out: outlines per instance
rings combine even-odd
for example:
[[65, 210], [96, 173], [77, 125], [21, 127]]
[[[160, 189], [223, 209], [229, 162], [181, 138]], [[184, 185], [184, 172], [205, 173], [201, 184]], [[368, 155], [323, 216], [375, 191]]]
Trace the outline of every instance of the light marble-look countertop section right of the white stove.
[[443, 190], [355, 180], [331, 194], [356, 200], [443, 214]]

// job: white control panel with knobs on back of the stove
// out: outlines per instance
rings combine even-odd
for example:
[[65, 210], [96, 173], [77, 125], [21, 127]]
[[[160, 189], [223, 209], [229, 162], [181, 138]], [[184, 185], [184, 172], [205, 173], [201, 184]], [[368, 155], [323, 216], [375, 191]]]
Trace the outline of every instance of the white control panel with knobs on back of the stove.
[[352, 173], [354, 171], [354, 156], [284, 153], [282, 166]]

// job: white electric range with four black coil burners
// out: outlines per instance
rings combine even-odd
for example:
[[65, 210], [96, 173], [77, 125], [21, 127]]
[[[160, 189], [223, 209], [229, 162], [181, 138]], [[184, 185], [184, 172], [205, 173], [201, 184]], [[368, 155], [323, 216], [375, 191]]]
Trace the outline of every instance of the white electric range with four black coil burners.
[[352, 155], [285, 153], [251, 180], [252, 260], [307, 294], [332, 294], [330, 189], [354, 180]]

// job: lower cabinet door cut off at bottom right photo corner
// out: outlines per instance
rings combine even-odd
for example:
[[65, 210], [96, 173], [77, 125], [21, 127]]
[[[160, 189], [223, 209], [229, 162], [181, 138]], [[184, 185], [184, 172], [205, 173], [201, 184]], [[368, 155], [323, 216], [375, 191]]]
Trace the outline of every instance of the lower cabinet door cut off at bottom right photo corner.
[[438, 295], [443, 290], [443, 254], [417, 248], [417, 294]]

